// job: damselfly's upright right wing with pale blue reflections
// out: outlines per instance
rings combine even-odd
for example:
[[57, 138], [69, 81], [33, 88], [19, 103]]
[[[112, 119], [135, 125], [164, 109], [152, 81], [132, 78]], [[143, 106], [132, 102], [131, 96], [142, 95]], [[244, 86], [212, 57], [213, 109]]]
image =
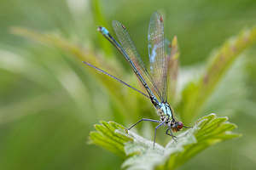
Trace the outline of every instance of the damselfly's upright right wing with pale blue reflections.
[[154, 13], [148, 27], [148, 56], [150, 73], [162, 102], [167, 100], [167, 66], [165, 52], [164, 22], [160, 14]]

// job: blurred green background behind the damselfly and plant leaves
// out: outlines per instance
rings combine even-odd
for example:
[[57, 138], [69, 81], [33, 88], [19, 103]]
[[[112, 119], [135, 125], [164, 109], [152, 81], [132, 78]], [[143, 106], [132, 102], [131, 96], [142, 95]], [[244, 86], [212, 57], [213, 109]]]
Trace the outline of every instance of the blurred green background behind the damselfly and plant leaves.
[[[166, 37], [177, 36], [183, 83], [196, 79], [208, 55], [225, 39], [256, 23], [254, 0], [9, 0], [1, 2], [0, 11], [0, 169], [4, 170], [119, 169], [122, 159], [86, 144], [93, 125], [104, 120], [128, 127], [142, 116], [158, 118], [148, 99], [99, 76], [64, 49], [11, 34], [10, 26], [62, 37], [84, 50], [83, 60], [100, 59], [108, 63], [101, 64], [103, 70], [138, 87], [125, 59], [96, 26], [113, 33], [112, 20], [122, 22], [147, 63], [148, 22], [154, 11], [160, 12]], [[212, 146], [181, 169], [256, 167], [255, 47], [227, 72], [201, 115], [229, 116], [243, 137]], [[119, 90], [126, 102], [111, 95], [113, 90]], [[141, 125], [138, 133], [152, 139], [151, 126]], [[166, 136], [158, 138], [166, 144], [160, 140]]]

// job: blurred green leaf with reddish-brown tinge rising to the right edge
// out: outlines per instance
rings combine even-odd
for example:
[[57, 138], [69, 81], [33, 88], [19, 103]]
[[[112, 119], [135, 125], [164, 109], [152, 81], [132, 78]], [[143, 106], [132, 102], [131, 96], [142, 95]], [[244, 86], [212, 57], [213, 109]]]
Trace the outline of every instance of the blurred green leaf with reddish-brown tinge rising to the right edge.
[[256, 26], [224, 42], [210, 57], [205, 73], [197, 82], [189, 82], [183, 89], [182, 101], [177, 105], [183, 122], [190, 122], [201, 113], [207, 99], [212, 95], [218, 82], [240, 54], [256, 42]]

